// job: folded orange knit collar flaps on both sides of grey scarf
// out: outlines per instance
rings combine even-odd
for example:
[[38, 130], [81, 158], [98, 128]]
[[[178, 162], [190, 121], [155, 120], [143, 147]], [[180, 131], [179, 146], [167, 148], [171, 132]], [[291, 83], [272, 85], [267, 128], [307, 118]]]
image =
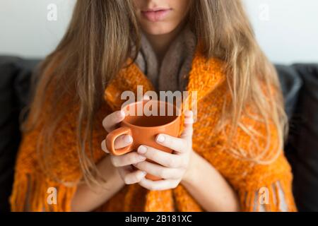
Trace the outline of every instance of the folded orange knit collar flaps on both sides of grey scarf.
[[[143, 94], [149, 90], [155, 90], [153, 83], [131, 60], [129, 66], [123, 68], [105, 88], [105, 101], [112, 110], [118, 110], [125, 100], [121, 100], [124, 91], [132, 91], [137, 96], [137, 87], [142, 85]], [[194, 58], [192, 60], [192, 69], [189, 72], [189, 81], [187, 91], [196, 92], [197, 101], [206, 97], [225, 81], [224, 63], [220, 59], [207, 59], [201, 51], [200, 45], [197, 45]]]

